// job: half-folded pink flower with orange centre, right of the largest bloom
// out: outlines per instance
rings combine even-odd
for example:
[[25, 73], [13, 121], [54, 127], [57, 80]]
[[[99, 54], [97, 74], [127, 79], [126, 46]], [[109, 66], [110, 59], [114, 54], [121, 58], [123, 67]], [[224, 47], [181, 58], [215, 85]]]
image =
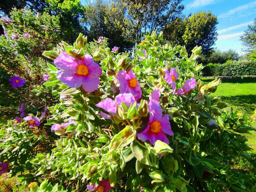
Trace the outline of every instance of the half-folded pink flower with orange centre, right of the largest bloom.
[[129, 73], [126, 71], [118, 71], [117, 81], [120, 84], [121, 93], [131, 93], [136, 101], [141, 98], [142, 91], [140, 88], [139, 81], [135, 78], [132, 70]]

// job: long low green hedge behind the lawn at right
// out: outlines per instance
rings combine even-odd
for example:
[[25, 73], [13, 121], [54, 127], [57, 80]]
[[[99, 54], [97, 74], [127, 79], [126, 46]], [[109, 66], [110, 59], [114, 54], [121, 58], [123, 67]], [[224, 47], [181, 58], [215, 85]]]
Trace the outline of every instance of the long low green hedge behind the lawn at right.
[[209, 63], [203, 69], [204, 76], [256, 75], [256, 62], [250, 60], [227, 61], [224, 64]]

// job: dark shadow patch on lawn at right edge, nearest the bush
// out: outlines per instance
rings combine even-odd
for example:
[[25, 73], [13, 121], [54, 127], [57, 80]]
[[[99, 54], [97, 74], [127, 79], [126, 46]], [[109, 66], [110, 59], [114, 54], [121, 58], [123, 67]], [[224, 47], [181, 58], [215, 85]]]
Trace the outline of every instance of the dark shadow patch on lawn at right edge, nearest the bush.
[[221, 96], [221, 100], [230, 105], [242, 107], [248, 113], [256, 109], [256, 95]]

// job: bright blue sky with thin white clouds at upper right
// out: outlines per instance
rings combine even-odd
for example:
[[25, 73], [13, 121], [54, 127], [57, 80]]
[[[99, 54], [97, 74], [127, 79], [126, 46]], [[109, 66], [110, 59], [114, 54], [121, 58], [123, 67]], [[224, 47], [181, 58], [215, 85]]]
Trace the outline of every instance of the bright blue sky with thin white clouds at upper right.
[[183, 13], [186, 16], [208, 10], [217, 15], [219, 35], [214, 47], [221, 51], [234, 49], [239, 54], [244, 54], [239, 39], [248, 25], [253, 24], [256, 0], [184, 0], [182, 4], [185, 6]]

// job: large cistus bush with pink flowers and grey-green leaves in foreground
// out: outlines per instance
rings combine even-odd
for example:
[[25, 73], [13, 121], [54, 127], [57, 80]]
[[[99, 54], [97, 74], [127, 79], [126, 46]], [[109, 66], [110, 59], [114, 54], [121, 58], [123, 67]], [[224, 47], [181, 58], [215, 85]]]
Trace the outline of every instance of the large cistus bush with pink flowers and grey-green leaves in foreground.
[[255, 190], [255, 175], [228, 163], [251, 149], [246, 112], [210, 97], [221, 82], [199, 79], [201, 47], [188, 57], [162, 37], [145, 36], [132, 53], [100, 46], [90, 55], [80, 34], [44, 52], [53, 60], [44, 86], [61, 98], [1, 129], [9, 172], [33, 192]]

